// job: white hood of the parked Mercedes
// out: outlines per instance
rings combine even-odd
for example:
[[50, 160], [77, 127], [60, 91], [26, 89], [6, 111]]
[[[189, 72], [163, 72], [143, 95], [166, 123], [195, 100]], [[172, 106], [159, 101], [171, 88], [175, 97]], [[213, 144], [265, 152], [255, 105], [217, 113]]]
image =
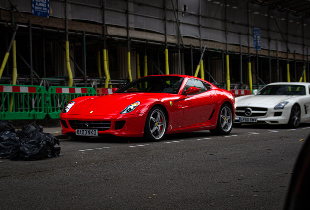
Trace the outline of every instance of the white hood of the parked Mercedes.
[[290, 101], [293, 98], [300, 96], [285, 96], [285, 95], [248, 95], [236, 97], [236, 104], [265, 104], [276, 105], [281, 101]]

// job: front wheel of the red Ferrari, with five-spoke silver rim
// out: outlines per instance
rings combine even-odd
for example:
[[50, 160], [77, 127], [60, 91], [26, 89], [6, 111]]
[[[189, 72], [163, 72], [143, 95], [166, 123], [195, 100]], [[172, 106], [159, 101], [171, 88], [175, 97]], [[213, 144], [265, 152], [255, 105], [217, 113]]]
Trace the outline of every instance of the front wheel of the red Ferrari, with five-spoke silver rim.
[[153, 142], [164, 138], [167, 130], [167, 117], [158, 106], [151, 108], [145, 122], [144, 138]]

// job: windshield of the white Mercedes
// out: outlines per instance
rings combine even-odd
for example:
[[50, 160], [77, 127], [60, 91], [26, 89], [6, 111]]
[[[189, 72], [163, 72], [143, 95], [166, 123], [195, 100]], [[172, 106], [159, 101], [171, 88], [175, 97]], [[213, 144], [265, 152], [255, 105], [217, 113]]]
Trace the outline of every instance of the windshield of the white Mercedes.
[[268, 85], [257, 95], [306, 95], [306, 90], [303, 85]]

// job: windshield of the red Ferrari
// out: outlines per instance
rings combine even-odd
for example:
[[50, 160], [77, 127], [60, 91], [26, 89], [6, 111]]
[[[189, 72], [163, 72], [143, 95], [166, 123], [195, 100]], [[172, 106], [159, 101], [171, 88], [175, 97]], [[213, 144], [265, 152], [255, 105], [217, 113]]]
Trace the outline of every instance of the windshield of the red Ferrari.
[[152, 92], [177, 94], [183, 79], [183, 77], [169, 75], [141, 77], [118, 89], [115, 93]]

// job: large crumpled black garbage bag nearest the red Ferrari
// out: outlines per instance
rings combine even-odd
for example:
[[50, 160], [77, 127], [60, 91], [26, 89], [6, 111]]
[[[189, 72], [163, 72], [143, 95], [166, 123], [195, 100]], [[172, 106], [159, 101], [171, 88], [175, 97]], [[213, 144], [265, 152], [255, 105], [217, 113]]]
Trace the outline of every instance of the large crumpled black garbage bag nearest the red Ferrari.
[[[59, 157], [60, 147], [55, 148], [56, 144], [60, 145], [58, 138], [49, 133], [43, 133], [41, 125], [38, 127], [25, 125], [21, 130], [16, 131], [16, 136], [19, 140], [17, 148], [15, 148], [14, 154], [6, 157], [10, 160], [39, 160]], [[9, 142], [6, 141], [4, 144], [8, 146]], [[5, 158], [3, 157], [3, 159]]]

